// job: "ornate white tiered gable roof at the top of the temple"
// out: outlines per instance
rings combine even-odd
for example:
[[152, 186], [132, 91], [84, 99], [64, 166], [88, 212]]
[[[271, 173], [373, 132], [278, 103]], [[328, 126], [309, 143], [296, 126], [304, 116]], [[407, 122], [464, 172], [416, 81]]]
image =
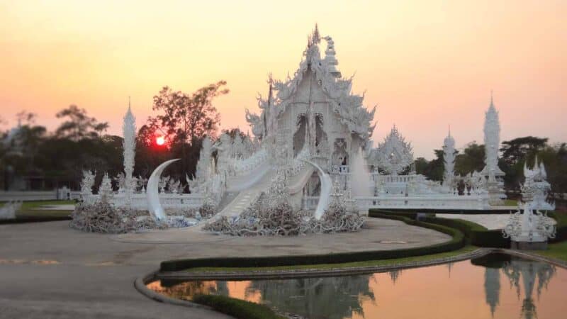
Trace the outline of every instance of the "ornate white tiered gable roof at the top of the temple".
[[[325, 57], [320, 55], [321, 40], [327, 42], [327, 50]], [[338, 116], [339, 121], [346, 125], [352, 132], [367, 140], [374, 131], [376, 124], [372, 125], [376, 106], [368, 111], [363, 105], [364, 94], [362, 96], [352, 94], [352, 78], [345, 79], [341, 77], [341, 73], [337, 69], [338, 61], [335, 57], [335, 42], [331, 37], [321, 38], [317, 26], [313, 30], [312, 35], [308, 37], [308, 45], [303, 51], [303, 60], [300, 62], [297, 71], [293, 77], [289, 77], [285, 81], [270, 81], [270, 91], [267, 99], [258, 99], [258, 106], [262, 109], [262, 115], [257, 116], [247, 111], [247, 121], [252, 125], [254, 134], [261, 130], [258, 125], [266, 123], [269, 119], [269, 113], [275, 116], [283, 113], [293, 100], [293, 96], [297, 93], [301, 80], [311, 70], [313, 77], [316, 79], [322, 91], [329, 98], [328, 101], [332, 106], [332, 110]], [[274, 93], [274, 96], [272, 94]], [[274, 111], [272, 111], [274, 110]], [[256, 128], [254, 130], [254, 128]]]

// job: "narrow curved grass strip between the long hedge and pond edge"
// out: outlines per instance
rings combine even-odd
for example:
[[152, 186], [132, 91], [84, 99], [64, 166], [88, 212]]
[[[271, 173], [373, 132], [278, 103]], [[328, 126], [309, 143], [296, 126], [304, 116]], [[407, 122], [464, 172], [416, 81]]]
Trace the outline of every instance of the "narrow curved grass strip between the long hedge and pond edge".
[[433, 259], [453, 257], [459, 254], [466, 254], [477, 250], [476, 246], [465, 246], [452, 252], [441, 252], [439, 254], [426, 254], [423, 256], [413, 256], [395, 259], [368, 260], [366, 262], [344, 262], [340, 264], [300, 264], [293, 266], [276, 267], [195, 267], [184, 269], [183, 272], [252, 272], [252, 271], [276, 271], [276, 270], [306, 270], [306, 269], [337, 269], [348, 267], [371, 267], [371, 266], [390, 266], [393, 264], [403, 264], [407, 262], [427, 262]]

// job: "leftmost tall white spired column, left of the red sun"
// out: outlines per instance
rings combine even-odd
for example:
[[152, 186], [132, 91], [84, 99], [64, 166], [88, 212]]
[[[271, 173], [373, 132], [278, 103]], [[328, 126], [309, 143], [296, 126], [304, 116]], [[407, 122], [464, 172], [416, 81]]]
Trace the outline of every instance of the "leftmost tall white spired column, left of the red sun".
[[128, 111], [124, 116], [124, 123], [122, 125], [124, 142], [124, 173], [125, 173], [125, 206], [132, 206], [132, 194], [134, 192], [134, 179], [132, 173], [134, 171], [134, 157], [136, 149], [136, 118], [130, 108], [130, 97], [128, 96]]

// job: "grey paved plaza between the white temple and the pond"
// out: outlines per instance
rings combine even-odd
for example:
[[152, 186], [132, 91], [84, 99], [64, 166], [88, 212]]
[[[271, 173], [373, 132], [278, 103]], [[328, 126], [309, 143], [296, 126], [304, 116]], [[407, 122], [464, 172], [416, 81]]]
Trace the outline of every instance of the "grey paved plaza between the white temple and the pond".
[[68, 222], [0, 225], [0, 318], [228, 318], [152, 301], [134, 280], [166, 259], [393, 250], [448, 235], [372, 218], [359, 233], [228, 237], [197, 228], [127, 235], [82, 233]]

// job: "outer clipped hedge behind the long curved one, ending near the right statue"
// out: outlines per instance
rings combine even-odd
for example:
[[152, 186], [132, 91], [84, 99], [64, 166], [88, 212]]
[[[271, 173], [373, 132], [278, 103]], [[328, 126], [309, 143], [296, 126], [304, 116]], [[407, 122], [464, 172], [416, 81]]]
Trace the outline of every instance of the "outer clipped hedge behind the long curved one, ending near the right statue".
[[[398, 219], [398, 217], [417, 218], [417, 213], [371, 210], [369, 211], [369, 216], [390, 218], [390, 219]], [[422, 220], [424, 220], [427, 223], [444, 225], [450, 228], [456, 228], [458, 230], [461, 230], [461, 232], [464, 233], [467, 242], [471, 245], [475, 245], [478, 247], [498, 247], [498, 248], [510, 247], [510, 239], [503, 237], [502, 230], [488, 230], [485, 227], [478, 225], [477, 223], [470, 222], [468, 220], [434, 217], [430, 214], [427, 214], [427, 216]]]

